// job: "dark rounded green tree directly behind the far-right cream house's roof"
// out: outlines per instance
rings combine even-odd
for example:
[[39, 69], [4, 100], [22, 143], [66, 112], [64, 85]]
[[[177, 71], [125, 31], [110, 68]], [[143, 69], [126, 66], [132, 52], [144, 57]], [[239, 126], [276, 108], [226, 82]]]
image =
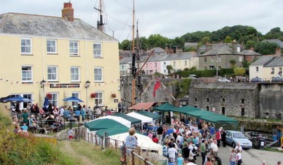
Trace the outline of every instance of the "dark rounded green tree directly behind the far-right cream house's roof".
[[275, 54], [277, 47], [280, 47], [277, 43], [258, 42], [254, 47], [254, 51], [262, 55]]

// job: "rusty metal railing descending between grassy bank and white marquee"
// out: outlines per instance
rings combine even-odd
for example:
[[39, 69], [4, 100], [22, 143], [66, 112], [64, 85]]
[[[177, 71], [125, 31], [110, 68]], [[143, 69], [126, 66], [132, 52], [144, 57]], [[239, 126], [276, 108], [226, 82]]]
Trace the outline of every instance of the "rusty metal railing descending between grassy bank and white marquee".
[[[95, 144], [97, 146], [101, 146], [101, 149], [105, 149], [108, 148], [110, 146], [115, 147], [115, 149], [118, 149], [119, 146], [124, 146], [125, 142], [124, 141], [119, 141], [116, 139], [112, 139], [110, 137], [108, 137], [108, 133], [105, 132], [104, 136], [103, 135], [98, 135], [98, 134], [92, 134], [92, 133], [86, 133], [87, 138], [85, 138], [86, 141]], [[104, 142], [104, 143], [103, 143]], [[125, 164], [127, 164], [127, 156], [130, 157], [130, 165], [135, 165], [136, 159], [135, 157], [137, 157], [139, 160], [141, 160], [142, 162], [144, 162], [145, 165], [154, 165], [153, 163], [149, 162], [147, 160], [147, 158], [144, 158], [142, 156], [140, 156], [141, 153], [141, 148], [130, 148], [130, 147], [123, 147], [122, 148], [125, 152], [124, 155], [124, 160], [125, 160]], [[135, 150], [137, 150], [138, 153], [135, 152]], [[129, 155], [127, 155], [127, 151], [129, 151]]]

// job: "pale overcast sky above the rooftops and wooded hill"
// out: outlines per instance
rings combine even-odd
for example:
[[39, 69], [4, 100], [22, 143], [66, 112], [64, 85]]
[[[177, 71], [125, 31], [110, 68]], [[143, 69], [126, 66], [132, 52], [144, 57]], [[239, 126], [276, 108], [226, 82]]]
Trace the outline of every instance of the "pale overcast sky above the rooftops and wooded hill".
[[[61, 16], [68, 0], [0, 0], [0, 13], [17, 12]], [[99, 0], [71, 0], [75, 18], [96, 27]], [[132, 0], [104, 0], [108, 24], [106, 33], [120, 41], [131, 39]], [[224, 26], [248, 25], [262, 34], [283, 29], [282, 0], [136, 0], [140, 36], [161, 34], [175, 38], [187, 32], [214, 31]]]

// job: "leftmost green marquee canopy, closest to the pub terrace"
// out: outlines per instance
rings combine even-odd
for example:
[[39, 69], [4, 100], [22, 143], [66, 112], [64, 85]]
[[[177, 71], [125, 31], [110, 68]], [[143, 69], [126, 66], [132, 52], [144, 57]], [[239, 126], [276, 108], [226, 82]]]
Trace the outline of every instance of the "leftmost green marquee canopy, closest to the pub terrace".
[[122, 125], [122, 124], [112, 119], [98, 119], [87, 122], [85, 124], [85, 127], [88, 128], [90, 131], [95, 131], [95, 130], [112, 128], [116, 125]]

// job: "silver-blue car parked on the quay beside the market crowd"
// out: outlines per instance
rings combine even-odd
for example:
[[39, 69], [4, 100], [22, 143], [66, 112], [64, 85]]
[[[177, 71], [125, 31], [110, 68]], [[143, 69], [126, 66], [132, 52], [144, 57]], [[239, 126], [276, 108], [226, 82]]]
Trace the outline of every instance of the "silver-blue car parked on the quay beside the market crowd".
[[239, 142], [242, 148], [252, 148], [252, 142], [243, 133], [235, 130], [227, 130], [226, 132], [226, 143], [232, 145], [233, 148]]

